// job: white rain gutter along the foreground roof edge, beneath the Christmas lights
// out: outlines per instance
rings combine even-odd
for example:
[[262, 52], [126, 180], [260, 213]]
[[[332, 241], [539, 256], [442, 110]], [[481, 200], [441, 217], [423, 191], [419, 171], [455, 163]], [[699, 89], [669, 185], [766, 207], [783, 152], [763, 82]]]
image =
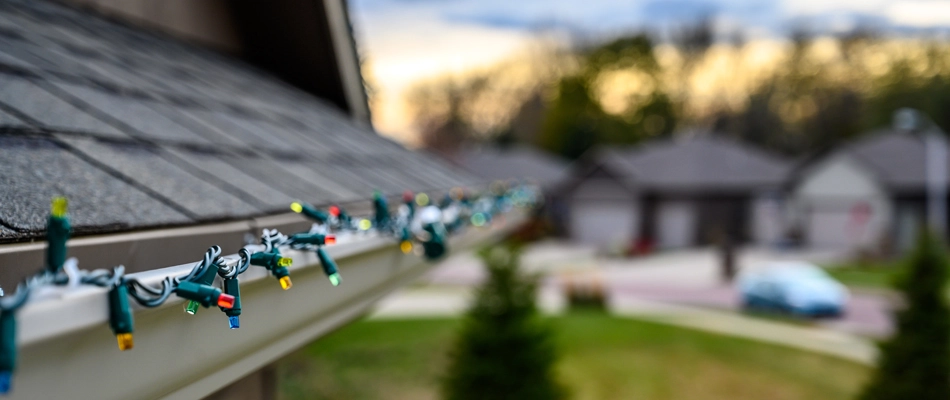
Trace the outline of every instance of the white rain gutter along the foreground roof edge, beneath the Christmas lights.
[[[521, 217], [506, 219], [504, 226], [468, 228], [450, 249], [497, 240]], [[201, 398], [363, 315], [431, 267], [390, 238], [340, 237], [327, 251], [339, 264], [340, 286], [330, 285], [312, 252], [286, 251], [294, 259], [290, 290], [260, 267], [241, 275], [240, 329], [229, 330], [215, 308], [187, 315], [173, 296], [159, 308], [136, 309], [135, 348], [126, 352], [108, 328], [104, 289], [50, 289], [17, 315], [19, 363], [9, 398]], [[192, 266], [134, 276], [157, 283]]]

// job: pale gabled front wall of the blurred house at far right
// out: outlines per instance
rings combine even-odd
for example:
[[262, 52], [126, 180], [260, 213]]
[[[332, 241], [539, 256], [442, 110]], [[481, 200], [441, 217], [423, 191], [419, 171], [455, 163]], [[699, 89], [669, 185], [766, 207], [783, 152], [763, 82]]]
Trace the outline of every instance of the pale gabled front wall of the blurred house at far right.
[[794, 198], [796, 222], [813, 247], [871, 249], [891, 226], [886, 192], [861, 163], [844, 155], [807, 171]]

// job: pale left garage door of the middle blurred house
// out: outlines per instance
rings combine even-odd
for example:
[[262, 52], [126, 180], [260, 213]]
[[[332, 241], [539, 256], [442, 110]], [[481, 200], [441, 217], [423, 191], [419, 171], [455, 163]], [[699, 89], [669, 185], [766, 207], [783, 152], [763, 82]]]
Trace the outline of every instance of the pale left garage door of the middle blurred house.
[[571, 236], [600, 247], [629, 244], [639, 228], [635, 204], [621, 200], [577, 200], [571, 207]]

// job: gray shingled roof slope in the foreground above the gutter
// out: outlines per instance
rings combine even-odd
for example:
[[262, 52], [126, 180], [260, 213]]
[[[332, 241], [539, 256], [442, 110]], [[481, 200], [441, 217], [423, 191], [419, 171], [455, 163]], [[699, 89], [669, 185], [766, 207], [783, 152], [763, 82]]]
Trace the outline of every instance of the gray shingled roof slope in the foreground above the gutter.
[[59, 195], [93, 233], [480, 182], [240, 61], [33, 0], [0, 2], [0, 171], [0, 241]]

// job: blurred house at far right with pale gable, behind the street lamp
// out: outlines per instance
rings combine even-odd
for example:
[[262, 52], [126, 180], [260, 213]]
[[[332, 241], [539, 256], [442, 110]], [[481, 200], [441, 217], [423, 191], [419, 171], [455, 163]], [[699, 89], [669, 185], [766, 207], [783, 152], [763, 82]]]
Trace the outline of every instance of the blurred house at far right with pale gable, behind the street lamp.
[[872, 132], [797, 168], [789, 183], [790, 222], [802, 244], [909, 248], [926, 214], [925, 135], [942, 133]]

